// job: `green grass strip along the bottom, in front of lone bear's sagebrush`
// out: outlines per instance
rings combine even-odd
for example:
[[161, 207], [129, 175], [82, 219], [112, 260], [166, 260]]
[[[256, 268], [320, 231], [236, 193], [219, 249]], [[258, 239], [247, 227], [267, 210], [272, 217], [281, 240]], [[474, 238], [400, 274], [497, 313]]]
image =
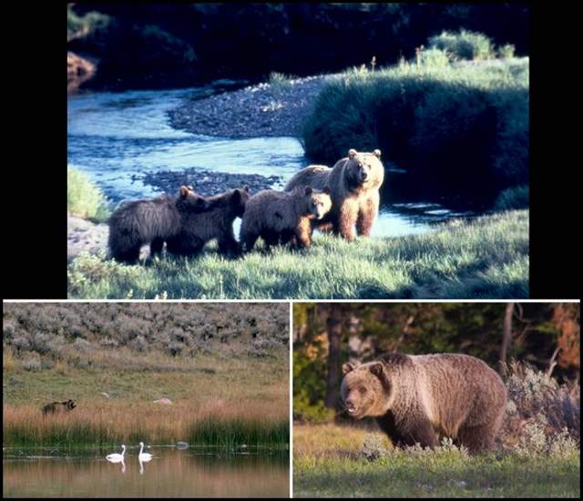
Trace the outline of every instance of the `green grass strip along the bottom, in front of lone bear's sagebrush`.
[[294, 458], [294, 497], [579, 497], [580, 456]]

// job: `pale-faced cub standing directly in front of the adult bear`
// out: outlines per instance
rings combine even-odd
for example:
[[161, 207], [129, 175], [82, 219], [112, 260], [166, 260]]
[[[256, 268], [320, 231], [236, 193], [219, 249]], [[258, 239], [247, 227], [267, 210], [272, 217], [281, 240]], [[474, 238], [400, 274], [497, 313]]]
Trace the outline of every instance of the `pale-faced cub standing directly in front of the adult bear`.
[[261, 236], [267, 247], [292, 242], [296, 247], [312, 244], [312, 219], [322, 219], [332, 207], [330, 190], [297, 186], [291, 192], [262, 190], [251, 196], [240, 225], [240, 242], [251, 251]]

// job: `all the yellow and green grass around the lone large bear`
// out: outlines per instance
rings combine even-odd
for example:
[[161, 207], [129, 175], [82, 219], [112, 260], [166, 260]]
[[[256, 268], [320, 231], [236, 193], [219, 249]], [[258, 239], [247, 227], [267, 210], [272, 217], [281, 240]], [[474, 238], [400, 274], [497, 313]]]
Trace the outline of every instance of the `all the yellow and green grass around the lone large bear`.
[[[378, 440], [384, 440], [380, 434]], [[366, 446], [347, 426], [294, 426], [293, 496], [578, 497], [580, 455], [467, 456], [455, 448], [393, 451]], [[368, 449], [368, 450], [367, 450]]]

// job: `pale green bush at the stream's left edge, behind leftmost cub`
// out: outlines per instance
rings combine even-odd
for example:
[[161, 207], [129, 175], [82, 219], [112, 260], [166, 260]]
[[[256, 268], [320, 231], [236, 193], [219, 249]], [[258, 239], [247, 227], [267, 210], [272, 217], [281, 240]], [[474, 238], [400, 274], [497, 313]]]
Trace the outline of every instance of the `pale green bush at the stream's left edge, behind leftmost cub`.
[[104, 221], [110, 208], [105, 195], [94, 185], [87, 175], [67, 167], [66, 169], [66, 209], [71, 215]]

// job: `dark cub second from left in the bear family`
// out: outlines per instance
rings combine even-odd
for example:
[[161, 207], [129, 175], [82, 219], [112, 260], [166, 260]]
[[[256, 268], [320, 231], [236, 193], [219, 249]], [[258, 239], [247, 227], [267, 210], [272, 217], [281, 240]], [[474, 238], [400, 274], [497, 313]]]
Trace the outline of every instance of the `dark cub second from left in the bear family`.
[[247, 186], [210, 196], [207, 201], [212, 208], [203, 214], [190, 214], [183, 221], [180, 233], [167, 240], [167, 251], [180, 256], [194, 256], [207, 242], [216, 238], [221, 254], [240, 254], [240, 245], [233, 234], [233, 221], [236, 217], [242, 217], [250, 196]]

